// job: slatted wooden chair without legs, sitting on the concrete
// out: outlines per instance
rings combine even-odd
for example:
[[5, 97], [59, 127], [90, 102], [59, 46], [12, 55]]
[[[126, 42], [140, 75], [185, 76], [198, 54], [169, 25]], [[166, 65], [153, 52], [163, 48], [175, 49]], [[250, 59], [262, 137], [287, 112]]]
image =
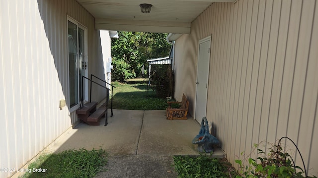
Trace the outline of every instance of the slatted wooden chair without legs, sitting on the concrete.
[[[166, 109], [166, 115], [168, 120], [172, 119], [187, 119], [189, 101], [186, 95], [183, 94], [181, 102], [168, 101], [168, 107]], [[179, 107], [171, 107], [171, 104], [179, 104]]]

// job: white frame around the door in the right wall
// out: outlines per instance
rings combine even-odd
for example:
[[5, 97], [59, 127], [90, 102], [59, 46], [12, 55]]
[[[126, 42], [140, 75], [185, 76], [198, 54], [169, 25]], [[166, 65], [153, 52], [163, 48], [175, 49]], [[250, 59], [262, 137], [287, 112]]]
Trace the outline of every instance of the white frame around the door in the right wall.
[[[207, 92], [206, 92], [206, 97], [208, 97], [208, 89], [209, 89], [209, 75], [210, 75], [210, 59], [211, 59], [211, 42], [212, 42], [212, 34], [210, 35], [210, 36], [208, 36], [208, 37], [205, 37], [205, 38], [203, 38], [203, 39], [201, 39], [201, 40], [199, 40], [199, 42], [198, 42], [198, 56], [197, 56], [197, 62], [196, 62], [196, 70], [197, 70], [197, 76], [196, 76], [196, 82], [198, 82], [197, 80], [198, 80], [198, 72], [199, 72], [199, 69], [198, 69], [198, 67], [199, 67], [199, 57], [200, 57], [200, 44], [202, 44], [202, 43], [205, 43], [205, 42], [208, 42], [208, 41], [210, 41], [210, 43], [209, 43], [209, 48], [210, 48], [210, 55], [209, 55], [209, 61], [208, 61], [208, 72], [207, 72], [207, 79], [208, 79], [208, 88], [207, 88]], [[196, 120], [196, 106], [197, 106], [197, 85], [196, 85], [196, 87], [195, 87], [195, 97], [194, 97], [194, 107], [193, 107], [193, 110], [194, 110], [194, 112], [193, 112], [193, 118]], [[205, 103], [205, 112], [207, 112], [207, 103]], [[201, 124], [200, 122], [199, 122], [199, 124]]]

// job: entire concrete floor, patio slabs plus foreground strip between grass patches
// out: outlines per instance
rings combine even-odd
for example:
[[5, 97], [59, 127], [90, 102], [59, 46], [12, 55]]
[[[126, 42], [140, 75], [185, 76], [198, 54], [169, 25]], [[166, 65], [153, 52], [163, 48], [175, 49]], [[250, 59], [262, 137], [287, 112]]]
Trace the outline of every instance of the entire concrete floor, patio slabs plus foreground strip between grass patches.
[[[200, 125], [192, 118], [166, 120], [164, 110], [113, 113], [106, 127], [105, 118], [100, 126], [80, 123], [59, 137], [48, 151], [105, 149], [109, 171], [99, 173], [97, 178], [176, 178], [173, 155], [199, 155], [191, 141]], [[213, 155], [225, 156], [220, 149]]]

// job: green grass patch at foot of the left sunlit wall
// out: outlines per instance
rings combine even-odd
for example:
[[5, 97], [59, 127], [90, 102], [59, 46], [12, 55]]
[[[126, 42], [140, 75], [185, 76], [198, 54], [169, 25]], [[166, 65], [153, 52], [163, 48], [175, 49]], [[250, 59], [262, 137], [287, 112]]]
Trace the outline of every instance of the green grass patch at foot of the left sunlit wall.
[[[107, 163], [107, 153], [99, 150], [66, 150], [44, 154], [31, 163], [22, 178], [93, 178]], [[33, 168], [45, 170], [33, 172]]]

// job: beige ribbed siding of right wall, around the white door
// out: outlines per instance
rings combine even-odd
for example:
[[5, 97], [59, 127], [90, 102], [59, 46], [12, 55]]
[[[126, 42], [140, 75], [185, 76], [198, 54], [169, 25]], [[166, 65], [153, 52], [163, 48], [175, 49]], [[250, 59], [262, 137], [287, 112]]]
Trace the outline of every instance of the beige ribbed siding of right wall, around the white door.
[[[175, 97], [188, 95], [192, 115], [198, 42], [212, 34], [207, 118], [234, 165], [254, 143], [288, 136], [317, 176], [317, 6], [316, 0], [215, 2], [176, 41]], [[293, 156], [302, 166], [299, 153]]]

